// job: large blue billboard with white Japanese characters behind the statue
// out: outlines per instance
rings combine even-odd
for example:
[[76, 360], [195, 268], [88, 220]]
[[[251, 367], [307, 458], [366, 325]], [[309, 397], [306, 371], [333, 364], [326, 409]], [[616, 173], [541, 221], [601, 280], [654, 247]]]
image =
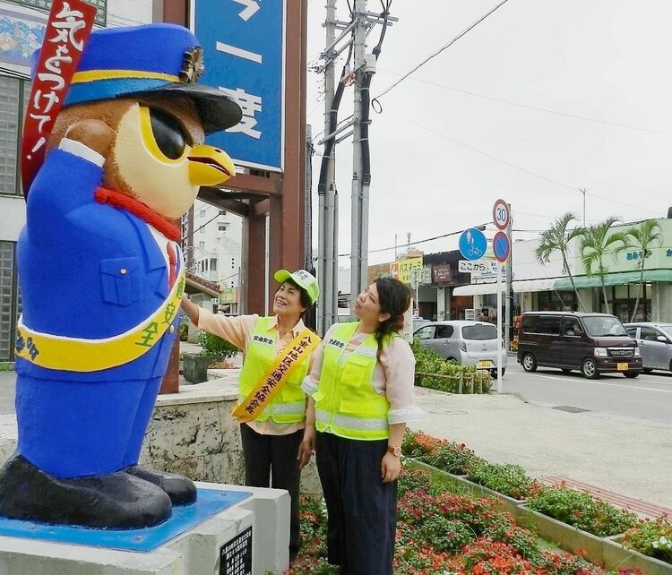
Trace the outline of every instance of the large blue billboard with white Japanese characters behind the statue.
[[191, 14], [205, 60], [199, 83], [226, 92], [243, 110], [239, 124], [206, 142], [241, 166], [281, 171], [285, 0], [192, 0]]

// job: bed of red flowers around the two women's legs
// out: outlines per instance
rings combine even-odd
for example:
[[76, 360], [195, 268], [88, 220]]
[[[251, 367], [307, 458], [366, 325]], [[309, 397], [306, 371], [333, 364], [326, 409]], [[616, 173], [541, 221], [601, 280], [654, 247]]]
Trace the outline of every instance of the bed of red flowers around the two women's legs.
[[[498, 511], [495, 502], [442, 493], [430, 473], [404, 470], [399, 483], [395, 575], [606, 575], [579, 555], [551, 550]], [[323, 502], [302, 501], [304, 544], [287, 575], [336, 575], [324, 559]], [[621, 575], [638, 571], [618, 571]]]

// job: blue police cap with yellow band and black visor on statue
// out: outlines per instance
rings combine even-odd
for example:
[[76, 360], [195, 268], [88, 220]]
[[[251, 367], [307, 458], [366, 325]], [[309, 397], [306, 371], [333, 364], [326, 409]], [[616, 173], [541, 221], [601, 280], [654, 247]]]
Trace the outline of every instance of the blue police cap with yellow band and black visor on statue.
[[65, 107], [126, 96], [182, 96], [194, 101], [205, 133], [236, 125], [240, 107], [222, 91], [196, 84], [202, 71], [202, 48], [182, 26], [96, 30], [84, 47]]

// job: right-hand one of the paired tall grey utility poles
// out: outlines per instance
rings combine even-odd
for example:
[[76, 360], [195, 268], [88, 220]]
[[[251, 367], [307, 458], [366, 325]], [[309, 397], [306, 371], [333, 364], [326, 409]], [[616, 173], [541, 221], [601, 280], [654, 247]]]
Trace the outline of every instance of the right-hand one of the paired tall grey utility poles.
[[[351, 193], [351, 242], [350, 242], [350, 301], [366, 284], [368, 270], [368, 185], [363, 185], [362, 164], [362, 85], [366, 64], [366, 0], [355, 0], [353, 30], [353, 72], [357, 74], [354, 93], [352, 138], [352, 193]], [[368, 106], [368, 101], [366, 102]], [[368, 184], [368, 183], [366, 183]], [[365, 189], [366, 187], [366, 189]], [[350, 315], [354, 311], [350, 306]]]

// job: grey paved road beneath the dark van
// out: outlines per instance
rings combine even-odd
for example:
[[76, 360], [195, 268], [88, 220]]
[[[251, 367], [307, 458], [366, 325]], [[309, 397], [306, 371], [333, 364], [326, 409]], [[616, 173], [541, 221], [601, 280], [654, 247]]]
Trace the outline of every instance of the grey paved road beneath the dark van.
[[587, 380], [578, 372], [564, 374], [557, 369], [525, 373], [515, 358], [509, 357], [502, 388], [545, 407], [579, 408], [672, 424], [672, 373], [642, 374], [633, 380], [615, 373]]

